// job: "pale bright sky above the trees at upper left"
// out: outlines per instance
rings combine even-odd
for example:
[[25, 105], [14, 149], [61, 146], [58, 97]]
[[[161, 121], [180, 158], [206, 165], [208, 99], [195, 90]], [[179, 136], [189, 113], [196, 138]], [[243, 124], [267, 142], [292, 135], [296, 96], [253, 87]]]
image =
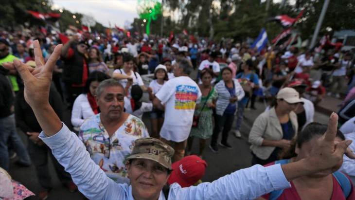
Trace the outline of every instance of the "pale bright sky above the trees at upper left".
[[106, 27], [115, 24], [124, 28], [126, 21], [132, 23], [137, 14], [138, 0], [53, 0], [53, 8], [65, 8], [72, 13], [89, 15]]

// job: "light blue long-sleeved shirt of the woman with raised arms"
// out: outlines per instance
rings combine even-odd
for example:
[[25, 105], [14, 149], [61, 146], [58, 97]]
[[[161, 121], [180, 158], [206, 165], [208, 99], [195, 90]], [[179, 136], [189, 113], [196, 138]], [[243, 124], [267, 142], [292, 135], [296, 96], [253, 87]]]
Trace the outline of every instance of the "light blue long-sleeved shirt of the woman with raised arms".
[[[39, 138], [52, 149], [54, 157], [71, 174], [79, 191], [92, 200], [134, 200], [132, 187], [115, 183], [95, 164], [84, 144], [67, 126], [51, 137], [43, 131]], [[273, 190], [289, 188], [280, 164], [268, 167], [254, 165], [226, 175], [213, 182], [181, 188], [170, 185], [169, 200], [255, 199]], [[160, 192], [159, 200], [165, 200]]]

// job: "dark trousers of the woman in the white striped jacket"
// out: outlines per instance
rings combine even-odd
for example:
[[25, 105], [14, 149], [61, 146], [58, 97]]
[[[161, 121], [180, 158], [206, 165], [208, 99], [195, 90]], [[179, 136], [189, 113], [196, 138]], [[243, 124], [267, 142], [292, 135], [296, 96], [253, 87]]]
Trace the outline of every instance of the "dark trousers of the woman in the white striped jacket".
[[214, 128], [211, 140], [211, 146], [215, 146], [217, 144], [219, 132], [222, 130], [222, 140], [221, 143], [225, 144], [228, 140], [228, 132], [231, 130], [232, 124], [234, 120], [234, 114], [226, 114], [224, 113], [222, 116], [218, 114], [214, 114]]

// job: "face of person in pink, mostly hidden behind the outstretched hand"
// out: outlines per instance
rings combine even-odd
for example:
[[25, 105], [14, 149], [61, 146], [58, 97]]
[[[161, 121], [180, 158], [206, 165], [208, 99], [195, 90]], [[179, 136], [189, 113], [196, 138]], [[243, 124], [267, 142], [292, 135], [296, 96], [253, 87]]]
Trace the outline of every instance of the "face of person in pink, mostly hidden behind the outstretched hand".
[[[312, 148], [319, 142], [321, 136], [316, 136], [312, 138], [310, 141], [302, 144], [301, 148], [296, 146], [295, 152], [297, 154], [296, 161], [299, 161], [303, 158], [308, 158], [312, 151]], [[342, 140], [338, 137], [335, 138], [335, 142], [341, 142]], [[339, 161], [339, 163], [334, 168], [339, 168], [343, 164], [343, 159]], [[318, 172], [316, 174], [309, 175], [309, 177], [320, 178], [329, 175], [329, 171]]]

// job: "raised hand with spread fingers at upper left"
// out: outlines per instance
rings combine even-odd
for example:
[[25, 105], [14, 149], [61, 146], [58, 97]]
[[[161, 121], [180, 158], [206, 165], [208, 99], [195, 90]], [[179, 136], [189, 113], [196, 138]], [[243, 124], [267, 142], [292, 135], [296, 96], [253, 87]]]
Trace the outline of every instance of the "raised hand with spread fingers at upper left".
[[49, 90], [52, 81], [52, 73], [56, 61], [60, 57], [62, 44], [54, 48], [52, 55], [47, 63], [44, 62], [42, 50], [38, 40], [34, 41], [35, 64], [32, 68], [19, 60], [13, 63], [3, 63], [2, 66], [8, 70], [17, 70], [23, 79], [25, 85], [24, 97], [26, 102], [32, 107], [42, 107], [49, 105]]

